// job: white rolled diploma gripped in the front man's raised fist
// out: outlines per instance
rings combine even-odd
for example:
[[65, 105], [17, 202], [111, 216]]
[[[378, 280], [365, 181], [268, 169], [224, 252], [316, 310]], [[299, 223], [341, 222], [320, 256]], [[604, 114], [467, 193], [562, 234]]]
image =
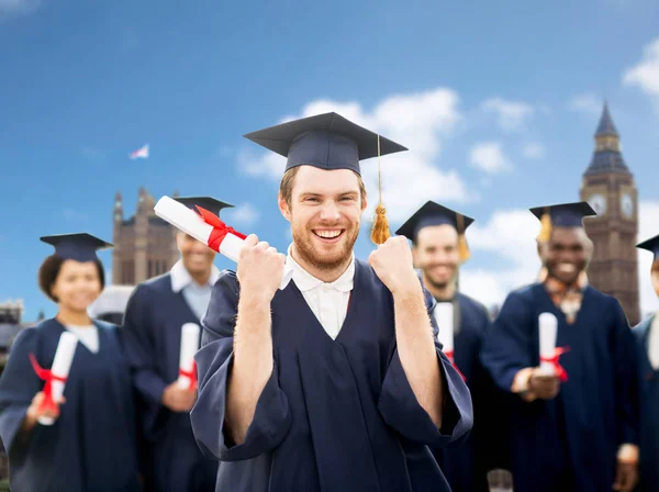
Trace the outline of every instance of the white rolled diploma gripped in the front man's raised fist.
[[[211, 237], [213, 226], [206, 224], [203, 219], [182, 203], [179, 203], [169, 197], [163, 197], [158, 200], [158, 203], [156, 203], [154, 211], [156, 212], [156, 215], [170, 223], [176, 228], [189, 234], [203, 244], [209, 244], [209, 237]], [[243, 243], [244, 239], [241, 239], [235, 234], [227, 233], [226, 236], [224, 236], [224, 239], [222, 239], [217, 253], [237, 262]], [[289, 265], [284, 265], [283, 277], [281, 278], [279, 289], [284, 289], [292, 278], [292, 268]]]

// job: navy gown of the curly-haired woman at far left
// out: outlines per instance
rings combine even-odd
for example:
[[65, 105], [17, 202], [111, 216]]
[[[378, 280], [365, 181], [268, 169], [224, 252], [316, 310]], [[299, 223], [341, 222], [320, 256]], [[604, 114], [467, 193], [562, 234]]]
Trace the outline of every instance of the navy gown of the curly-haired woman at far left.
[[20, 492], [139, 491], [135, 410], [121, 332], [96, 321], [99, 351], [78, 343], [59, 418], [20, 429], [42, 381], [29, 355], [51, 368], [59, 335], [55, 318], [20, 333], [0, 378], [0, 436], [8, 450], [11, 489]]

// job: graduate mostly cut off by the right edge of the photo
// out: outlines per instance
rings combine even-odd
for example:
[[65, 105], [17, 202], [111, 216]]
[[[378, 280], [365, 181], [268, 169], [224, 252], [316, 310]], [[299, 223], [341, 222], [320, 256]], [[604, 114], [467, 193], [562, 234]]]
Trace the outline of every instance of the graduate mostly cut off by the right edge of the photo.
[[[659, 297], [659, 236], [637, 245], [655, 255], [650, 275]], [[659, 315], [657, 313], [634, 328], [638, 357], [640, 411], [640, 492], [659, 491]]]

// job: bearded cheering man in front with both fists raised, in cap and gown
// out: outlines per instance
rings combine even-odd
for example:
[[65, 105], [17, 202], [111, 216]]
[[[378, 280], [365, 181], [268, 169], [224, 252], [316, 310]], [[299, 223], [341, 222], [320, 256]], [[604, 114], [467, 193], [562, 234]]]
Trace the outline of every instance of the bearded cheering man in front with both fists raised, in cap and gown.
[[[369, 262], [353, 253], [359, 160], [405, 148], [336, 113], [247, 137], [288, 157], [279, 208], [293, 242], [284, 258], [247, 236], [203, 320], [191, 420], [222, 460], [216, 491], [449, 491], [428, 446], [466, 436], [472, 410], [435, 340], [434, 300], [404, 237]], [[294, 273], [279, 289], [284, 261]]]

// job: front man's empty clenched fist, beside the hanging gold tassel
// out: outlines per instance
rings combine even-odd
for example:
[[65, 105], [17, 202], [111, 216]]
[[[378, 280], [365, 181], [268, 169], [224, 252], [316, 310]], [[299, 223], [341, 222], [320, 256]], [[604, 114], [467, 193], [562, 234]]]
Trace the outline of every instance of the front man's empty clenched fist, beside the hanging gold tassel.
[[368, 262], [392, 294], [421, 287], [414, 272], [412, 249], [404, 236], [390, 237], [379, 245], [368, 257]]

